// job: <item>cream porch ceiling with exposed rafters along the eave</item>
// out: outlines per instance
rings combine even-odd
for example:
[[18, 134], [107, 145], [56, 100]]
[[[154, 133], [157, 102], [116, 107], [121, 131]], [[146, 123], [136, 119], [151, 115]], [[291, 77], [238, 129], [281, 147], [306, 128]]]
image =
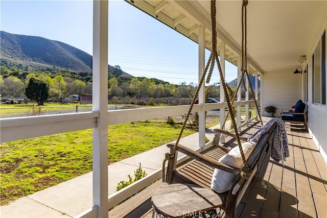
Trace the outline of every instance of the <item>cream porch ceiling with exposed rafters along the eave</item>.
[[[211, 46], [210, 1], [128, 1], [183, 35], [198, 41], [205, 26]], [[236, 64], [241, 48], [241, 1], [217, 1], [218, 38], [226, 43], [226, 59]], [[247, 52], [251, 69], [295, 69], [326, 19], [326, 1], [249, 1]]]

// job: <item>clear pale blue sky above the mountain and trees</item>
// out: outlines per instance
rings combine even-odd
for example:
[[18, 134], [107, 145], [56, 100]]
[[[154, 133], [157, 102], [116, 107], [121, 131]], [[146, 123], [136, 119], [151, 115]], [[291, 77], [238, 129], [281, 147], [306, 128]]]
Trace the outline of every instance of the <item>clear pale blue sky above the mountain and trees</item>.
[[[1, 30], [62, 41], [92, 55], [92, 1], [0, 4]], [[198, 44], [126, 2], [109, 1], [108, 46], [108, 63], [133, 76], [198, 83]], [[236, 67], [226, 64], [226, 81], [236, 77]], [[218, 81], [215, 70], [211, 83]]]

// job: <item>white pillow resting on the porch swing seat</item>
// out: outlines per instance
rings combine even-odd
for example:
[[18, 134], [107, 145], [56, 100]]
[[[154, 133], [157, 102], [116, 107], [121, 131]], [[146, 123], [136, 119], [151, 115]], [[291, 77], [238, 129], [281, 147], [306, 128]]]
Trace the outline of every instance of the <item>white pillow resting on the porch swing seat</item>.
[[[246, 160], [253, 151], [255, 144], [256, 143], [252, 141], [242, 143], [242, 149]], [[219, 159], [219, 162], [225, 163], [228, 166], [241, 168], [243, 166], [243, 160], [239, 147], [236, 146], [230, 150], [228, 154], [225, 154]], [[238, 171], [235, 171], [235, 173], [228, 173], [222, 169], [215, 169], [211, 180], [211, 188], [218, 193], [228, 191], [238, 173]]]

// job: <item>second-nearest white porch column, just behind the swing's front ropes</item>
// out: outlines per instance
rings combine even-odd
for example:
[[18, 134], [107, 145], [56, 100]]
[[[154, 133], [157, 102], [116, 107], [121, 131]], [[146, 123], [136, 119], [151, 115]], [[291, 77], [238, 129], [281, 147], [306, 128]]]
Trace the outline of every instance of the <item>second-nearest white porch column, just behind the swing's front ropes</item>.
[[[205, 62], [205, 35], [204, 26], [199, 27], [199, 83], [204, 71]], [[200, 84], [199, 84], [200, 85]], [[199, 104], [205, 103], [205, 81], [203, 80], [199, 91]], [[204, 107], [199, 111], [199, 147], [204, 148], [205, 145], [205, 110]]]

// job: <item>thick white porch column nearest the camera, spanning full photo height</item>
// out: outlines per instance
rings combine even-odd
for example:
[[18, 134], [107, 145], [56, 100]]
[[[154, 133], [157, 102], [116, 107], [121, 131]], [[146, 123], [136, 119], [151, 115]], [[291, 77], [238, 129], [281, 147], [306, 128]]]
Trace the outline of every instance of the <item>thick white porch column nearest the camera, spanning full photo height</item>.
[[93, 2], [92, 111], [99, 111], [93, 129], [93, 205], [108, 217], [108, 1]]

